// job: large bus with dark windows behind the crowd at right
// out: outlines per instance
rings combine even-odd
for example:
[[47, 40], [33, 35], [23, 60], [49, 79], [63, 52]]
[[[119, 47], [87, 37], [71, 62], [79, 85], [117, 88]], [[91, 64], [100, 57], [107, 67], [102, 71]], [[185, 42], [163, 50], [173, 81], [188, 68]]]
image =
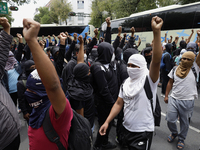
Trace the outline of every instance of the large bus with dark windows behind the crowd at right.
[[[131, 27], [134, 27], [136, 31], [136, 44], [140, 37], [141, 45], [138, 49], [142, 50], [145, 48], [146, 43], [151, 43], [153, 40], [151, 19], [154, 16], [159, 16], [164, 21], [161, 32], [161, 42], [164, 42], [165, 33], [167, 33], [168, 38], [173, 36], [173, 40], [176, 36], [179, 37], [179, 41], [182, 36], [186, 39], [191, 34], [192, 29], [194, 29], [194, 35], [190, 41], [196, 41], [196, 30], [200, 29], [200, 2], [161, 7], [135, 13], [130, 15], [130, 17], [111, 20], [112, 41], [114, 41], [117, 36], [119, 26], [122, 26], [122, 33], [127, 33], [127, 39], [131, 35]], [[107, 24], [104, 22], [101, 25], [101, 36], [106, 31], [106, 27]], [[177, 44], [177, 46], [179, 45]]]

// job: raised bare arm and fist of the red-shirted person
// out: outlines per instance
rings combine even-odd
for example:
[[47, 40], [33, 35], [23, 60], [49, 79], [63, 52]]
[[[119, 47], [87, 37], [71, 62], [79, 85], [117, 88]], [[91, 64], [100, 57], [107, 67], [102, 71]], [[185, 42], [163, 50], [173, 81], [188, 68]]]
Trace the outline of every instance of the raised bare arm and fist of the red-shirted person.
[[59, 117], [65, 109], [66, 98], [55, 67], [37, 41], [40, 24], [32, 19], [23, 19], [23, 26], [23, 35], [31, 49], [38, 74], [45, 86], [56, 115]]

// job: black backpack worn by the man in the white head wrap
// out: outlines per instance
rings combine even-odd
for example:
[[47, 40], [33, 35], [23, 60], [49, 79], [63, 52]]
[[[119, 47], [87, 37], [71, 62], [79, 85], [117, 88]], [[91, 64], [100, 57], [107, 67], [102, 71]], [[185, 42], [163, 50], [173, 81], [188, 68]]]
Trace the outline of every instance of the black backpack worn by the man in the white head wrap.
[[144, 84], [144, 90], [145, 93], [147, 95], [147, 98], [150, 100], [151, 103], [151, 110], [154, 116], [154, 125], [155, 126], [160, 126], [160, 122], [161, 122], [161, 107], [160, 107], [160, 102], [158, 99], [158, 96], [156, 95], [156, 107], [155, 107], [155, 111], [153, 111], [153, 94], [151, 91], [151, 87], [149, 84], [149, 80], [148, 77], [146, 77], [146, 81]]

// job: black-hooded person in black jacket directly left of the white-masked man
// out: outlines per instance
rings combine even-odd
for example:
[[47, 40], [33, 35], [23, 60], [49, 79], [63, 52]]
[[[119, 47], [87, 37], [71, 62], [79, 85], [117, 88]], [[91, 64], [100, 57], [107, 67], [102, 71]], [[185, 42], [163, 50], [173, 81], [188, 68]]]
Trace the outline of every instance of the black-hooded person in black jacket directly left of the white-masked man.
[[[118, 84], [115, 68], [110, 63], [114, 52], [113, 47], [107, 42], [102, 42], [99, 44], [97, 52], [98, 58], [90, 69], [93, 77], [94, 99], [97, 105], [98, 121], [101, 126], [117, 99]], [[111, 124], [105, 136], [101, 136], [99, 133], [97, 134], [97, 139], [94, 144], [95, 150], [116, 147], [116, 145], [108, 141], [110, 128]]]

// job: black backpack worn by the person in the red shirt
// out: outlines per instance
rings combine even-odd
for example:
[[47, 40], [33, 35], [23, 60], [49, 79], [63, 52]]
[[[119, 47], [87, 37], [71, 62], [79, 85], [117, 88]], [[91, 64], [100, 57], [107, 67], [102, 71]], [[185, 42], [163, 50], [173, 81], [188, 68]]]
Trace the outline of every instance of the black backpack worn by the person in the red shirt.
[[[73, 109], [72, 109], [73, 110]], [[42, 123], [43, 130], [47, 138], [56, 143], [59, 150], [66, 150], [60, 142], [60, 137], [54, 130], [49, 117], [49, 109], [46, 111], [44, 121]], [[73, 119], [71, 121], [70, 134], [68, 139], [68, 150], [90, 150], [92, 147], [92, 130], [89, 121], [73, 110]]]

